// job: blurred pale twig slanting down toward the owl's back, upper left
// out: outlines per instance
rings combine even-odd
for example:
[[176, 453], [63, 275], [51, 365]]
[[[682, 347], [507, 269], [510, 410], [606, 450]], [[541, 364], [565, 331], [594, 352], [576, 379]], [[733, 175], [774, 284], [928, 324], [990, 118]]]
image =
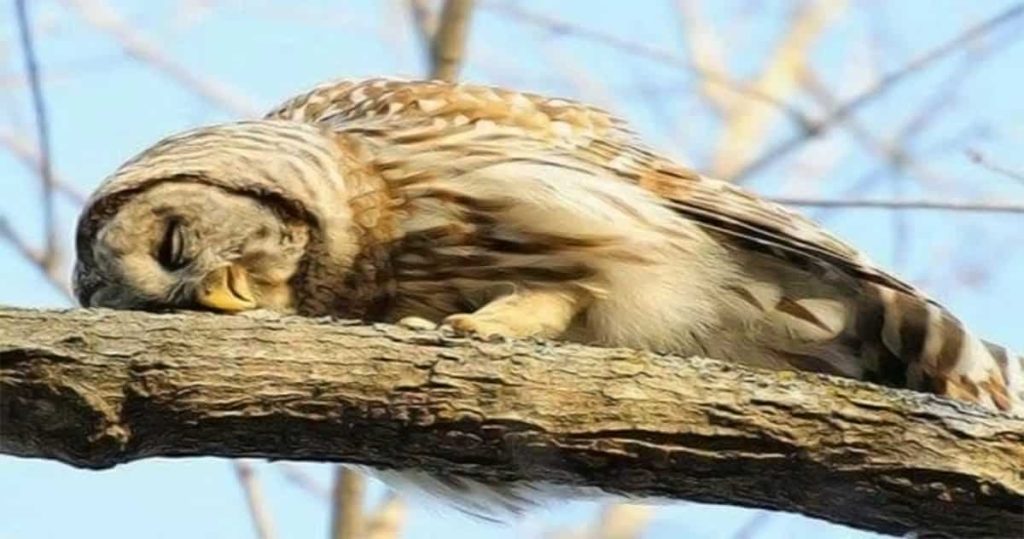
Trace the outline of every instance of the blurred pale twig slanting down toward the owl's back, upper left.
[[234, 88], [217, 80], [193, 73], [175, 60], [138, 28], [125, 20], [103, 0], [65, 0], [78, 10], [86, 23], [113, 37], [129, 56], [156, 68], [196, 92], [207, 101], [230, 113], [256, 118], [261, 111], [253, 100]]

